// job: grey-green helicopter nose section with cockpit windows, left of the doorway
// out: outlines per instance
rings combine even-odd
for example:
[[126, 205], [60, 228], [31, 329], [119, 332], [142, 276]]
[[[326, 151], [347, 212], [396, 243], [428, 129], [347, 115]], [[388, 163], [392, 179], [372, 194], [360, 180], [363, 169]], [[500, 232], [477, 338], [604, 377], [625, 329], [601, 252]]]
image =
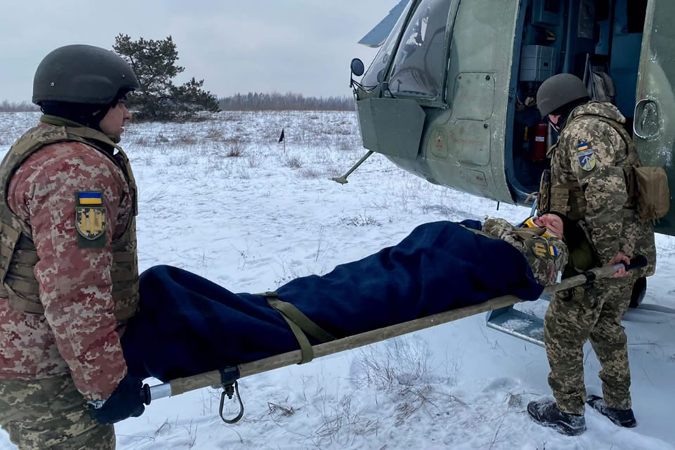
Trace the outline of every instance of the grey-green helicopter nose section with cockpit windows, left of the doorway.
[[356, 89], [364, 147], [513, 203], [504, 140], [518, 2], [413, 0]]

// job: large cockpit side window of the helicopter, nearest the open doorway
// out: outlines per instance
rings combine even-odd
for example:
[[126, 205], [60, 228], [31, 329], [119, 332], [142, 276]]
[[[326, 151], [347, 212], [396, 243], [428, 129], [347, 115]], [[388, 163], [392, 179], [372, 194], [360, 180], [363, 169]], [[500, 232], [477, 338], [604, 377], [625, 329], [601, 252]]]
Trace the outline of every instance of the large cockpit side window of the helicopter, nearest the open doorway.
[[436, 97], [446, 58], [445, 27], [451, 0], [423, 0], [408, 23], [392, 66], [392, 94]]

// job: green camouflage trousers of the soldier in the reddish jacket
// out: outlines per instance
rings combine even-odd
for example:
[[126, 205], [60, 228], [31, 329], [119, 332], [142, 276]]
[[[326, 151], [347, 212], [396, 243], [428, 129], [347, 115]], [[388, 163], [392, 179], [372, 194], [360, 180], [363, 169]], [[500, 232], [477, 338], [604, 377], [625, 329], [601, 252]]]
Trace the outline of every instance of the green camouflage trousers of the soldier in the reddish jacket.
[[113, 425], [99, 425], [70, 375], [0, 380], [0, 425], [19, 450], [114, 450]]

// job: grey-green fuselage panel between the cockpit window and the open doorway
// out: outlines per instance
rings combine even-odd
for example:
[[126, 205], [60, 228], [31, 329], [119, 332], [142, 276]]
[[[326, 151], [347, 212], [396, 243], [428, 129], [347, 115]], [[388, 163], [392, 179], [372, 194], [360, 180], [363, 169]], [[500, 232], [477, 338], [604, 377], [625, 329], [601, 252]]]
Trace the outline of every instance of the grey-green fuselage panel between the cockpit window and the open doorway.
[[449, 177], [458, 180], [453, 184], [462, 191], [515, 203], [506, 177], [505, 145], [521, 5], [515, 1], [499, 6], [487, 0], [458, 2], [446, 68], [449, 109], [430, 117], [434, 126], [425, 129], [422, 154], [430, 180]]

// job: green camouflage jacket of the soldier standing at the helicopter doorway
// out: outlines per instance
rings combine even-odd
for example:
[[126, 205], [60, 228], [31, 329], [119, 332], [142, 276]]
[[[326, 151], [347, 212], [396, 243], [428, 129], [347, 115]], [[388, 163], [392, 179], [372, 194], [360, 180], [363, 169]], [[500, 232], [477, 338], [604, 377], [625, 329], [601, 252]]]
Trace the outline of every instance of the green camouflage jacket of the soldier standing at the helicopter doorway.
[[645, 272], [651, 274], [656, 259], [654, 233], [631, 207], [624, 175], [624, 168], [641, 165], [640, 157], [606, 120], [626, 122], [611, 103], [586, 103], [567, 117], [551, 150], [551, 210], [560, 209], [553, 207], [556, 186], [565, 186], [563, 192], [570, 189], [570, 196], [576, 191], [576, 211], [558, 212], [579, 220], [600, 263], [607, 264], [619, 252], [629, 257], [641, 254], [648, 257], [650, 267]]

